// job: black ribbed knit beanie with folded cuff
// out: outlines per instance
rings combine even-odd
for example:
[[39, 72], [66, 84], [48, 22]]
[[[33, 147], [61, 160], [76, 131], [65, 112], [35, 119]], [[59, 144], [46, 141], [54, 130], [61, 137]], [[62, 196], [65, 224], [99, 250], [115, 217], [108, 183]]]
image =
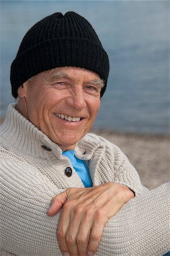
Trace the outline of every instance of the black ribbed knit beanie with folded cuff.
[[109, 60], [91, 24], [72, 11], [54, 13], [24, 36], [11, 65], [12, 95], [30, 77], [57, 67], [80, 67], [97, 73], [107, 86]]

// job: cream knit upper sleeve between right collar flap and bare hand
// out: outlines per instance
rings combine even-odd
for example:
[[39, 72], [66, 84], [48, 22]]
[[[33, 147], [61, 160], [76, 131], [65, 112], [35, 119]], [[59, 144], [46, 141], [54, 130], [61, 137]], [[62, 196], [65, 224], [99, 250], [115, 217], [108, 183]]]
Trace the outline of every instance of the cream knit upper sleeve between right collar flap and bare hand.
[[[146, 193], [148, 189], [142, 185], [138, 172], [120, 148], [102, 137], [100, 143], [105, 145], [105, 150], [104, 154], [97, 152], [93, 159], [92, 164], [99, 162], [98, 165], [96, 164], [95, 185], [113, 181], [126, 185], [135, 196]], [[90, 167], [94, 168], [92, 165]]]

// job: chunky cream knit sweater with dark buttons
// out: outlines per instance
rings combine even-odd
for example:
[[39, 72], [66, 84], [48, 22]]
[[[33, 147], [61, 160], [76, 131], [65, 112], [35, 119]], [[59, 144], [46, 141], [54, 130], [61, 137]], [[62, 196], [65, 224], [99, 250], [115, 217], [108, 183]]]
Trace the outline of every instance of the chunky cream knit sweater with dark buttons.
[[[14, 105], [8, 107], [1, 127], [0, 151], [1, 255], [61, 255], [59, 214], [48, 217], [46, 211], [53, 196], [68, 187], [84, 187], [70, 160]], [[88, 161], [93, 185], [117, 181], [141, 195], [108, 221], [96, 255], [156, 256], [168, 251], [169, 184], [148, 192], [120, 149], [94, 134], [78, 142], [75, 154]], [[65, 175], [68, 166], [71, 177]]]

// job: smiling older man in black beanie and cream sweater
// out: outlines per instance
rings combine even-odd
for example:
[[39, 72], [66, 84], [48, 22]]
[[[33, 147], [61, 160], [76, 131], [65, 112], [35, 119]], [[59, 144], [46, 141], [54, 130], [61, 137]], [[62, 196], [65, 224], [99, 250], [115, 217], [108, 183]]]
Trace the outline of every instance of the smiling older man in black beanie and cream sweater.
[[[24, 36], [11, 65], [18, 101], [8, 107], [1, 127], [1, 255], [168, 250], [167, 229], [155, 225], [168, 221], [160, 210], [168, 185], [148, 193], [119, 148], [87, 134], [108, 72], [107, 53], [78, 14], [50, 15]], [[143, 196], [124, 205], [134, 195]], [[148, 209], [154, 222], [148, 221]]]

